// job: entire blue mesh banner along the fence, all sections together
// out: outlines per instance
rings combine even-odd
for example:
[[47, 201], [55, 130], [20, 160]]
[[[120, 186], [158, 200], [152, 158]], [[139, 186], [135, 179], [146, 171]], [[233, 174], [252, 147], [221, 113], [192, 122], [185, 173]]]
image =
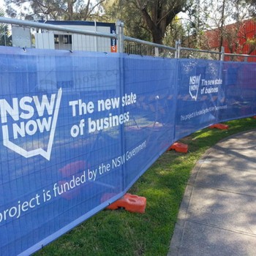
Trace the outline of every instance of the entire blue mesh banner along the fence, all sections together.
[[255, 64], [0, 48], [0, 255], [124, 195], [175, 140], [255, 115]]

